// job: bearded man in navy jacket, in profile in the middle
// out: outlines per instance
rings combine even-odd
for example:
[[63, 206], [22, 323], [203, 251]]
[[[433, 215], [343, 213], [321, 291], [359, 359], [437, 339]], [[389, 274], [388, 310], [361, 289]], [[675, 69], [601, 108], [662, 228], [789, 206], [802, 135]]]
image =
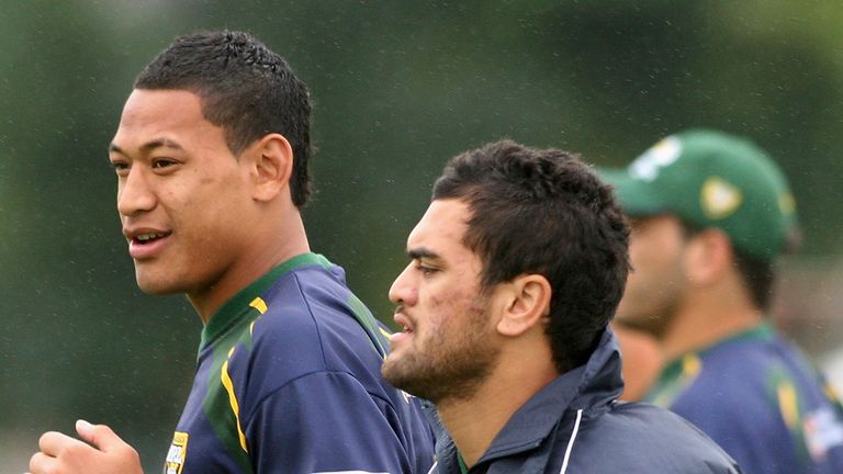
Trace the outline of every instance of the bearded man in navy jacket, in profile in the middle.
[[740, 472], [682, 418], [615, 400], [628, 235], [564, 151], [505, 140], [448, 163], [390, 290], [404, 331], [383, 364], [438, 408], [431, 472]]

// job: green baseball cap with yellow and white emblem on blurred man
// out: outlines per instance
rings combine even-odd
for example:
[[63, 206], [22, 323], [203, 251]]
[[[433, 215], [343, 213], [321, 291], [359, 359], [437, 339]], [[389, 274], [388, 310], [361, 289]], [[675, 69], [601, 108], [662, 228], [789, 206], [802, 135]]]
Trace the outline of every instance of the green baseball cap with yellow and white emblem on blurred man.
[[784, 174], [744, 138], [688, 129], [662, 139], [625, 169], [599, 173], [628, 215], [674, 214], [694, 227], [720, 228], [737, 249], [764, 261], [798, 236], [796, 202]]

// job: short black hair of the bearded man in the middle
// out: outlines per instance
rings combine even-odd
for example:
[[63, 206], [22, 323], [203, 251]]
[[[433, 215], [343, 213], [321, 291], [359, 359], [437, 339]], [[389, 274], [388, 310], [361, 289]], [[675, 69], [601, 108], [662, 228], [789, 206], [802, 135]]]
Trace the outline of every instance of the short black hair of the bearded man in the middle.
[[501, 140], [452, 158], [432, 199], [468, 203], [463, 244], [483, 262], [484, 290], [525, 273], [548, 279], [554, 364], [585, 363], [629, 272], [629, 227], [611, 188], [567, 151]]

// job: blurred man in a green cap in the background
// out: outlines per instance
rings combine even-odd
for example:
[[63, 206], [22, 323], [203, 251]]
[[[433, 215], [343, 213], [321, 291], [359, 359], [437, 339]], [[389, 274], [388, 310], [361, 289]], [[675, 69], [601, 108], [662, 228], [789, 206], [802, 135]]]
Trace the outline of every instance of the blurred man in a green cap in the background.
[[662, 346], [647, 399], [717, 441], [749, 473], [843, 472], [843, 418], [818, 374], [765, 318], [794, 199], [749, 140], [678, 133], [608, 170], [631, 216], [633, 272], [617, 323]]

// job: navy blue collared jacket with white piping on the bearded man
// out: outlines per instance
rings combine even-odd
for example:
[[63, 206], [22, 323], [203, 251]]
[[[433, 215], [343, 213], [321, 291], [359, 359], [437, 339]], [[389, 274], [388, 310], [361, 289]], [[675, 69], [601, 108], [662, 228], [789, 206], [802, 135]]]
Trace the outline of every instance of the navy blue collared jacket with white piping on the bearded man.
[[[620, 353], [607, 329], [588, 362], [521, 406], [469, 472], [741, 473], [728, 454], [677, 415], [616, 402], [622, 387]], [[457, 449], [443, 430], [437, 458], [431, 473], [460, 473]]]

